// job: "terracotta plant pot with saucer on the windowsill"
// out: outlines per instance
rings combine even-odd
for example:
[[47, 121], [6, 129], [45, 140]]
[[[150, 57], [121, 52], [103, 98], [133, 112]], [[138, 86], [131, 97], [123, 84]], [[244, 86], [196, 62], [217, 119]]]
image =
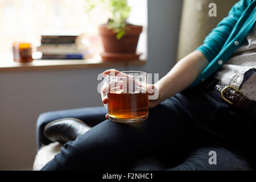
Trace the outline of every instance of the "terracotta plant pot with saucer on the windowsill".
[[136, 54], [139, 35], [142, 32], [142, 26], [128, 24], [129, 30], [121, 39], [116, 38], [116, 33], [107, 28], [107, 24], [102, 24], [98, 30], [104, 47], [101, 53], [102, 60], [136, 60], [139, 55]]

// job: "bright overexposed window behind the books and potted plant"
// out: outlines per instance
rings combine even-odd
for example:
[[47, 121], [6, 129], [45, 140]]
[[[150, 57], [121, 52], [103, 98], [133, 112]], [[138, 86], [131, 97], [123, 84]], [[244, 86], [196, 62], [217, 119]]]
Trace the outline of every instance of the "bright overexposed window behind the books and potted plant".
[[[129, 22], [144, 27], [137, 50], [146, 55], [147, 0], [128, 3]], [[16, 40], [39, 46], [40, 34], [45, 30], [81, 30], [88, 38], [98, 39], [97, 26], [106, 22], [109, 12], [100, 5], [88, 16], [84, 5], [84, 0], [1, 0], [0, 52], [11, 53]]]

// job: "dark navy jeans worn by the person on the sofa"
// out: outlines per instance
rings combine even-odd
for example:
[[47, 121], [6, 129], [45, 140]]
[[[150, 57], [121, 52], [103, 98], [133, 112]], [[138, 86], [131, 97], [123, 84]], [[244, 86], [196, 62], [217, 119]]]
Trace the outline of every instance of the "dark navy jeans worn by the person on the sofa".
[[[99, 121], [66, 143], [42, 170], [252, 169], [255, 122], [223, 102], [210, 89], [211, 83], [208, 80], [167, 99], [150, 109], [141, 124]], [[209, 164], [210, 151], [216, 151], [217, 164]]]

